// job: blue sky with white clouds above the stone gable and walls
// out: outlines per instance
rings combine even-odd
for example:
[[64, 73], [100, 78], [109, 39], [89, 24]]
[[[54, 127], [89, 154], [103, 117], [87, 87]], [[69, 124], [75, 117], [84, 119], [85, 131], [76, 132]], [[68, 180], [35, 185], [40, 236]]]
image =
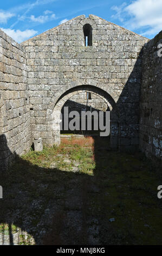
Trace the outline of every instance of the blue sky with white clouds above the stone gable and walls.
[[22, 42], [82, 14], [97, 15], [150, 39], [162, 29], [162, 0], [5, 0], [0, 28]]

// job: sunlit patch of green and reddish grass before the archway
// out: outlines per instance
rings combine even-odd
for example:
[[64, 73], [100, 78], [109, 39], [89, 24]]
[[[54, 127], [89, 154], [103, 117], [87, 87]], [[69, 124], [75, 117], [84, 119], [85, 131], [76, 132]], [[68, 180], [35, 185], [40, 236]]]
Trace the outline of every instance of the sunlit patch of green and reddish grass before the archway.
[[[60, 147], [43, 147], [41, 152], [31, 150], [23, 155], [22, 159], [44, 168], [50, 168], [51, 164], [55, 162], [56, 168], [67, 171], [72, 170], [74, 161], [79, 161], [79, 171], [92, 174], [95, 168], [95, 162], [92, 160], [93, 144], [92, 137], [62, 138]], [[66, 163], [67, 158], [70, 164]]]

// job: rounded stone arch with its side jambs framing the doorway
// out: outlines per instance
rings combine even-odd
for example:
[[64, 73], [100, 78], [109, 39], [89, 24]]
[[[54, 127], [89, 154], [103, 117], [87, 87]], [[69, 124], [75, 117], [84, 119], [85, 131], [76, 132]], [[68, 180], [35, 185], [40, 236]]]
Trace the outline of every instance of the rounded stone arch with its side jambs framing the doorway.
[[[112, 92], [111, 88], [108, 90]], [[113, 94], [113, 98], [108, 92], [99, 87], [97, 83], [95, 86], [88, 84], [74, 86], [73, 84], [73, 87], [72, 85], [68, 86], [61, 92], [57, 92], [55, 96], [53, 96], [47, 109], [47, 123], [49, 125], [49, 130], [52, 131], [53, 134], [52, 144], [60, 144], [60, 113], [64, 103], [75, 94], [81, 92], [91, 92], [100, 96], [105, 102], [107, 102], [109, 109], [111, 109], [111, 115], [113, 115], [111, 118], [111, 144], [114, 145], [114, 148], [119, 145], [120, 113], [115, 102], [115, 100], [118, 100], [115, 94]]]

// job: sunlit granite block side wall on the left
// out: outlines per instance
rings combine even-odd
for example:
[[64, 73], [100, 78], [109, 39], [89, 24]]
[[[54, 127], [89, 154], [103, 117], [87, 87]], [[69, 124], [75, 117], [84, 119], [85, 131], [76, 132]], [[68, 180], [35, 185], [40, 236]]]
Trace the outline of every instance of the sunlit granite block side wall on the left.
[[0, 170], [30, 149], [27, 76], [22, 46], [0, 31]]

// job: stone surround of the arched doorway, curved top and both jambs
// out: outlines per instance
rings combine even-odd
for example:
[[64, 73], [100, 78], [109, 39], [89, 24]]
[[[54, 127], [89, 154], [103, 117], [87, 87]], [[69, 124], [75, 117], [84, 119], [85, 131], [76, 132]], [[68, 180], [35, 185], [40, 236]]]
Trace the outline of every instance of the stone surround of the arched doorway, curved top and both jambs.
[[120, 133], [120, 118], [118, 108], [116, 103], [111, 95], [109, 95], [105, 90], [95, 87], [95, 86], [76, 86], [73, 87], [66, 92], [64, 92], [58, 99], [54, 99], [53, 102], [53, 111], [50, 113], [51, 117], [49, 118], [49, 125], [51, 125], [51, 131], [53, 134], [53, 144], [60, 144], [60, 118], [61, 118], [61, 109], [66, 104], [66, 102], [73, 98], [75, 95], [83, 94], [83, 93], [92, 93], [96, 95], [96, 97], [100, 97], [102, 101], [104, 101], [107, 105], [107, 109], [111, 111], [111, 133], [110, 133], [110, 141], [111, 147], [117, 149], [119, 146], [119, 133]]

